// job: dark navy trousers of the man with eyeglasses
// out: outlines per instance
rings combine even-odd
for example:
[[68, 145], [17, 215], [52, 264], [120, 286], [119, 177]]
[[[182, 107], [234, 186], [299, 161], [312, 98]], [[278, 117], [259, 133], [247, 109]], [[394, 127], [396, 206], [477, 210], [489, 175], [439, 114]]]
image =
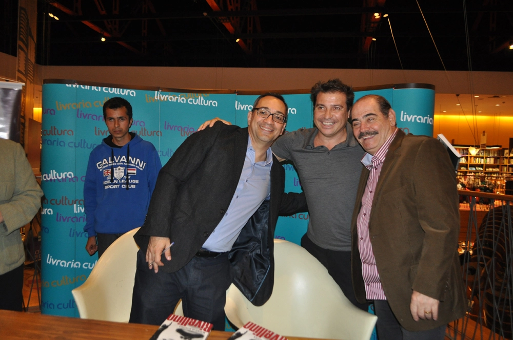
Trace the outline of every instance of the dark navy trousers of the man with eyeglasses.
[[185, 316], [209, 322], [214, 330], [224, 330], [230, 269], [228, 253], [222, 253], [210, 258], [193, 257], [174, 273], [159, 270], [155, 274], [139, 250], [130, 322], [160, 325], [182, 299]]

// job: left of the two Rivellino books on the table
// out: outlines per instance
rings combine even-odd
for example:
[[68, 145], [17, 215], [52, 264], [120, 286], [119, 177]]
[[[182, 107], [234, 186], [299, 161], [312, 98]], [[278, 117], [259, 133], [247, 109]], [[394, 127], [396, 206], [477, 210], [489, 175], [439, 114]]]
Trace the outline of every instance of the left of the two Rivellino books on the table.
[[206, 340], [212, 324], [190, 317], [171, 314], [155, 331], [150, 340], [184, 339]]

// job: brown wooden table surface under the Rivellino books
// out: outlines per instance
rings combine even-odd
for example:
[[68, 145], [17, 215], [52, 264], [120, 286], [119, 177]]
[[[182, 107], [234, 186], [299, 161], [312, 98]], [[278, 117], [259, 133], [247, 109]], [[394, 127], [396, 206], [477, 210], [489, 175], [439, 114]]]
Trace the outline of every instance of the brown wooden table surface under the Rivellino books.
[[[2, 340], [148, 340], [158, 328], [159, 326], [0, 310], [0, 339]], [[208, 340], [226, 340], [231, 334], [212, 331]], [[304, 339], [288, 338], [289, 340]]]

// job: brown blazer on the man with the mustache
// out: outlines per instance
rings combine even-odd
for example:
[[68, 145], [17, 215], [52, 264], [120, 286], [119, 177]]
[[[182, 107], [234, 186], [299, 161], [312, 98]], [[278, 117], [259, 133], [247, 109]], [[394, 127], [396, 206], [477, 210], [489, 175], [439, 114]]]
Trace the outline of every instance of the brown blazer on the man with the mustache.
[[[368, 176], [364, 167], [351, 224], [352, 279], [360, 302], [366, 299], [357, 217]], [[387, 301], [409, 331], [441, 326], [465, 312], [457, 252], [460, 217], [456, 185], [455, 169], [442, 143], [397, 132], [374, 192], [369, 236]], [[440, 300], [438, 321], [413, 320], [413, 290]]]

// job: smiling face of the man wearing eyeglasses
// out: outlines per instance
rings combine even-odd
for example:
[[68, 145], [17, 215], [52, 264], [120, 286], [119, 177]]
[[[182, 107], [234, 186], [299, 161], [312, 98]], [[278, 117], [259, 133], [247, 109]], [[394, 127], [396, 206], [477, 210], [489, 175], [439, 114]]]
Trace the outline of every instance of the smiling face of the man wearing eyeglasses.
[[[287, 116], [285, 104], [278, 98], [266, 96], [259, 100], [256, 108], [264, 108], [271, 113], [279, 113]], [[280, 124], [272, 120], [272, 115], [262, 118], [257, 115], [257, 111], [248, 112], [248, 131], [251, 136], [251, 143], [256, 144], [272, 144], [285, 130], [287, 124]]]

